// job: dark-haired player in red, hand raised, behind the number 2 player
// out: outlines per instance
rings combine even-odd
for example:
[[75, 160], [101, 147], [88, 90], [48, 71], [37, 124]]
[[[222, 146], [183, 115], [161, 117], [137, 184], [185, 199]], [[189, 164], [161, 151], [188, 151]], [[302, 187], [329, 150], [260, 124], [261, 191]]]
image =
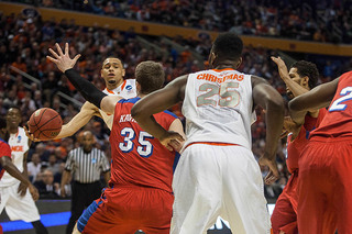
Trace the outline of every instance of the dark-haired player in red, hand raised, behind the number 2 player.
[[[276, 63], [280, 78], [286, 85], [286, 91], [289, 99], [308, 92], [316, 87], [319, 73], [317, 66], [306, 60], [299, 60], [293, 64], [289, 73], [280, 57], [272, 57]], [[275, 209], [272, 214], [272, 226], [274, 234], [298, 234], [297, 227], [297, 181], [298, 181], [298, 159], [308, 143], [309, 133], [316, 129], [326, 114], [326, 109], [310, 111], [305, 118], [305, 124], [301, 125], [297, 135], [294, 135], [296, 124], [292, 120], [286, 121], [284, 130], [289, 133], [287, 137], [287, 168], [290, 177], [283, 192], [278, 197]], [[286, 126], [286, 129], [285, 129]], [[288, 127], [293, 126], [293, 127]]]

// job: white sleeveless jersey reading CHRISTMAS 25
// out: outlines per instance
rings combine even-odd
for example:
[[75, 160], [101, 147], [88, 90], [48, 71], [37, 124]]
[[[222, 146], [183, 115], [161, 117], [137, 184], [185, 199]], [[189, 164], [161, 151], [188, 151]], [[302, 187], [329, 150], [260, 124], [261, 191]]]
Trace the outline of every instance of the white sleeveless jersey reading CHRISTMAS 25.
[[183, 104], [186, 145], [215, 142], [251, 149], [253, 98], [251, 76], [234, 69], [202, 70], [188, 76]]

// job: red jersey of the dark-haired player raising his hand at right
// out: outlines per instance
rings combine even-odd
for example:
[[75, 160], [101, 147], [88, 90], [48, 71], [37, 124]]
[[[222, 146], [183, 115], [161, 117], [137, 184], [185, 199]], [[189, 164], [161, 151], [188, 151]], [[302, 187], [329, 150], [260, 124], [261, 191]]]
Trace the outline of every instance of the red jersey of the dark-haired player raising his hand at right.
[[287, 137], [287, 168], [289, 172], [298, 169], [298, 159], [306, 147], [309, 138], [309, 134], [312, 130], [317, 129], [321, 123], [323, 116], [326, 115], [327, 110], [320, 109], [318, 118], [312, 118], [309, 114], [305, 118], [305, 124], [300, 127], [300, 132], [298, 133], [295, 141], [292, 142], [292, 134]]

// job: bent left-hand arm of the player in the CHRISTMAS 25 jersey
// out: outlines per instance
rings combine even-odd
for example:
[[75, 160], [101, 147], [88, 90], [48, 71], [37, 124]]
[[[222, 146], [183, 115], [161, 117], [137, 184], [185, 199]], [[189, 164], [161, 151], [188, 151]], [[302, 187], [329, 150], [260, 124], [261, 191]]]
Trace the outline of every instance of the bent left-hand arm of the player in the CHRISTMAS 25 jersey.
[[169, 143], [173, 140], [183, 142], [184, 138], [178, 133], [167, 132], [163, 129], [155, 121], [153, 114], [162, 112], [184, 99], [187, 78], [187, 75], [176, 78], [163, 89], [156, 90], [142, 98], [131, 110], [133, 119], [140, 124], [140, 126], [158, 138], [168, 149], [172, 148]]

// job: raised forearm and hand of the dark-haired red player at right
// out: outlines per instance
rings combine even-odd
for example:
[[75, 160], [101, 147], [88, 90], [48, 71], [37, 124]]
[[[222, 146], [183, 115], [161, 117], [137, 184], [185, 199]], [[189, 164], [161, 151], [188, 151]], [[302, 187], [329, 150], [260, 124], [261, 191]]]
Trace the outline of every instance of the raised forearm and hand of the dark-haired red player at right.
[[277, 65], [278, 74], [283, 81], [286, 83], [287, 88], [293, 92], [295, 97], [308, 92], [309, 90], [301, 87], [299, 83], [295, 82], [288, 75], [287, 67], [280, 57], [272, 56], [272, 60]]

